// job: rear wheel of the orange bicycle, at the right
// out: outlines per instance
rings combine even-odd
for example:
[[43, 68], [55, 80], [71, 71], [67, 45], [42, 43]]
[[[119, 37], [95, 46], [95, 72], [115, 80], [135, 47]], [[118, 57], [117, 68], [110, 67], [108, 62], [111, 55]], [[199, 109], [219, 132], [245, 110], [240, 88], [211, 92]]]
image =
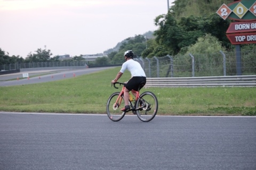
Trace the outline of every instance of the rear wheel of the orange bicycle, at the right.
[[146, 91], [140, 95], [140, 98], [136, 101], [137, 116], [142, 122], [149, 122], [156, 116], [158, 109], [158, 101], [156, 95], [153, 92]]

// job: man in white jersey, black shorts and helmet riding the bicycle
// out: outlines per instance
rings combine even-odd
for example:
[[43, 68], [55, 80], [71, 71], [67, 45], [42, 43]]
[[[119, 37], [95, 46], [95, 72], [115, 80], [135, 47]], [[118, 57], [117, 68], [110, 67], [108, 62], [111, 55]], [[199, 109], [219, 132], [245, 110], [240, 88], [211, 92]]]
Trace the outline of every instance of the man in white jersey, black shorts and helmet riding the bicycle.
[[[124, 90], [125, 107], [121, 109], [121, 111], [125, 112], [130, 109], [129, 91], [131, 91], [131, 90], [137, 91], [139, 89], [140, 83], [142, 83], [142, 82], [146, 83], [146, 74], [145, 74], [144, 70], [142, 69], [140, 63], [133, 60], [132, 50], [127, 50], [126, 52], [124, 52], [124, 59], [125, 59], [125, 62], [123, 63], [121, 70], [117, 73], [116, 78], [114, 80], [112, 80], [111, 83], [117, 82], [117, 80], [122, 77], [122, 75], [126, 69], [131, 72], [132, 78], [129, 81], [127, 81], [127, 83], [125, 85], [125, 90]], [[143, 86], [141, 86], [140, 89]], [[136, 96], [135, 92], [132, 92], [132, 94], [134, 96]]]

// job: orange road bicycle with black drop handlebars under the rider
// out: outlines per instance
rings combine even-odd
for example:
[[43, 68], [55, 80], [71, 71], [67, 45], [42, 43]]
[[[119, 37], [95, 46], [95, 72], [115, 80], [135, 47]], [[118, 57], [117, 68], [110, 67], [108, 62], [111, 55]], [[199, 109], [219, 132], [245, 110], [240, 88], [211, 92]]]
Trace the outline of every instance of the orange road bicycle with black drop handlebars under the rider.
[[158, 101], [157, 101], [156, 95], [150, 91], [145, 91], [141, 95], [139, 95], [140, 87], [143, 86], [145, 82], [140, 84], [138, 91], [132, 90], [136, 92], [135, 99], [131, 98], [129, 93], [130, 109], [125, 112], [121, 111], [121, 108], [125, 106], [124, 104], [125, 83], [115, 82], [113, 84], [116, 89], [118, 89], [118, 87], [116, 87], [116, 84], [119, 84], [119, 86], [123, 85], [123, 88], [121, 92], [114, 92], [114, 94], [110, 95], [110, 97], [108, 98], [106, 109], [107, 109], [108, 117], [110, 118], [111, 121], [118, 122], [122, 120], [124, 115], [130, 111], [132, 111], [133, 114], [137, 114], [137, 116], [142, 122], [149, 122], [153, 120], [153, 118], [156, 116], [156, 113], [157, 113]]

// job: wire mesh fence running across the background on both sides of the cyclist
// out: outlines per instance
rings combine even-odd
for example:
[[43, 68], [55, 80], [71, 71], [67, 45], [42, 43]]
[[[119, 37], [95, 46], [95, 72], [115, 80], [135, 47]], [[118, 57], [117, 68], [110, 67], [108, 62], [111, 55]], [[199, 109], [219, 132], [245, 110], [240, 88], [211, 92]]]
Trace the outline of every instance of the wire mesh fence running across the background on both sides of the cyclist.
[[[256, 50], [241, 52], [242, 75], [256, 74]], [[178, 77], [213, 77], [237, 75], [236, 52], [212, 53], [212, 54], [189, 54], [181, 56], [163, 56], [153, 58], [134, 58], [138, 61], [148, 78], [178, 78]], [[32, 69], [45, 67], [76, 67], [87, 65], [81, 62], [39, 62], [39, 63], [15, 63], [1, 65], [3, 70]], [[119, 65], [121, 65], [120, 63]], [[113, 65], [97, 65], [116, 66]], [[94, 67], [95, 65], [92, 64]], [[92, 67], [89, 63], [89, 67]], [[65, 68], [65, 69], [66, 69]]]

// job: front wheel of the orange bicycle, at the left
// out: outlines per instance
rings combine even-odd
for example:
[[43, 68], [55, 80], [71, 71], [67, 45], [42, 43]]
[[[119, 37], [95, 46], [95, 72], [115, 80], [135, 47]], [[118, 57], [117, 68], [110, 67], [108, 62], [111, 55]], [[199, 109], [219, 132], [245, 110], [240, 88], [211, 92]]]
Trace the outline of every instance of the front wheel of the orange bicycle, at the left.
[[115, 92], [112, 94], [107, 101], [107, 114], [111, 121], [117, 122], [120, 121], [125, 112], [122, 112], [120, 109], [125, 106], [123, 95], [119, 97], [118, 102], [116, 104], [116, 100], [119, 96], [120, 92]]

